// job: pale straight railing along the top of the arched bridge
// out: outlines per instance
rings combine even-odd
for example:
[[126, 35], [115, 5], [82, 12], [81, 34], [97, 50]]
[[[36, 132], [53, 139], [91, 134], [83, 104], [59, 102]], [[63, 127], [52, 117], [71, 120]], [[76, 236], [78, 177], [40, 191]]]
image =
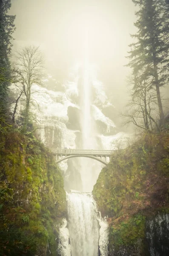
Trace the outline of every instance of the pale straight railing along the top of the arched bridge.
[[85, 149], [61, 149], [51, 148], [53, 154], [95, 154], [95, 155], [112, 155], [114, 150], [85, 150]]

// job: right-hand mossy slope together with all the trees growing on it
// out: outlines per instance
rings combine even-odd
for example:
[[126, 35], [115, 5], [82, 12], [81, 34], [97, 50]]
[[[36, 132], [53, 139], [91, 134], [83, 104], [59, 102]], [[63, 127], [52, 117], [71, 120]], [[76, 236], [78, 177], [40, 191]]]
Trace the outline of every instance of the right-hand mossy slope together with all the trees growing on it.
[[93, 189], [102, 214], [109, 215], [113, 256], [156, 255], [147, 250], [146, 218], [169, 212], [169, 123], [160, 92], [169, 81], [169, 6], [165, 0], [132, 2], [137, 31], [129, 45], [130, 100], [122, 116], [142, 134], [117, 152]]

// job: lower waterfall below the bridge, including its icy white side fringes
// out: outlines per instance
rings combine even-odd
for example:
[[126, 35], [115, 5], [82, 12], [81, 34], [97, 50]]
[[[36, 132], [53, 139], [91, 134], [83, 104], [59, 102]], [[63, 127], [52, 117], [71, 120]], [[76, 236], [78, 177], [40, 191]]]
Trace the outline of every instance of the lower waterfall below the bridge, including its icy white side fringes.
[[101, 218], [92, 193], [67, 193], [67, 206], [68, 224], [64, 220], [60, 228], [60, 255], [107, 256], [108, 224]]

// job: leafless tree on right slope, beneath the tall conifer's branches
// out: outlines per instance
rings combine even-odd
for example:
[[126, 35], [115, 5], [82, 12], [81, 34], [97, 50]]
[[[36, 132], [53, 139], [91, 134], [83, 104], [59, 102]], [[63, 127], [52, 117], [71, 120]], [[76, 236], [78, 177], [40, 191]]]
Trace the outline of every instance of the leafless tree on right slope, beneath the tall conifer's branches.
[[131, 100], [126, 106], [127, 111], [122, 114], [126, 117], [125, 125], [133, 123], [143, 130], [158, 128], [156, 121], [158, 99], [149, 70], [142, 71], [137, 77], [131, 77], [129, 83], [132, 84]]

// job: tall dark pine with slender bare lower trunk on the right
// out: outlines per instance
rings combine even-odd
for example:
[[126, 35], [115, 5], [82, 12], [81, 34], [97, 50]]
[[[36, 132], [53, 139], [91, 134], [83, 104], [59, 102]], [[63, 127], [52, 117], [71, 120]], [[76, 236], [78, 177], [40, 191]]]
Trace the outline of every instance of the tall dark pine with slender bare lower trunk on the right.
[[139, 10], [136, 12], [137, 33], [132, 35], [135, 43], [130, 44], [131, 51], [128, 66], [132, 67], [133, 75], [139, 70], [147, 70], [152, 76], [152, 85], [156, 88], [160, 123], [164, 123], [163, 106], [160, 87], [167, 81], [167, 65], [169, 63], [169, 40], [166, 40], [169, 20], [165, 15], [163, 0], [132, 0]]

